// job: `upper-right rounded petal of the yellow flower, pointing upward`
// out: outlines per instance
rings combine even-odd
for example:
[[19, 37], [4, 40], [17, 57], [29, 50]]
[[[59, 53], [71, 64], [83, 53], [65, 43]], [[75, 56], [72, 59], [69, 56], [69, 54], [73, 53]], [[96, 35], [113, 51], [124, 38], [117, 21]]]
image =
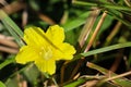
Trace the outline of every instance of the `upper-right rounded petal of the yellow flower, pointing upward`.
[[59, 45], [64, 40], [63, 28], [58, 25], [50, 26], [46, 32], [46, 36], [52, 41], [53, 45]]

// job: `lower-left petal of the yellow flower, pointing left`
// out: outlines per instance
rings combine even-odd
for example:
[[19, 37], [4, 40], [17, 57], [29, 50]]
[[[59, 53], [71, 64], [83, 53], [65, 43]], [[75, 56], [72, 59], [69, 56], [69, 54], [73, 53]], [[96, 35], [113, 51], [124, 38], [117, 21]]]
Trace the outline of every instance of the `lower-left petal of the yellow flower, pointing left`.
[[35, 61], [38, 58], [36, 51], [28, 46], [23, 46], [20, 52], [15, 57], [17, 63], [25, 64], [27, 62]]

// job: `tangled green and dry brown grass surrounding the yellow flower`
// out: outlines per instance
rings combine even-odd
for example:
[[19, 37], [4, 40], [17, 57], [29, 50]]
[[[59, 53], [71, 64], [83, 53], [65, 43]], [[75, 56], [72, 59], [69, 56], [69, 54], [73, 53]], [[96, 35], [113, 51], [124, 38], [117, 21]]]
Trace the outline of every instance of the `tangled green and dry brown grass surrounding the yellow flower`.
[[[75, 48], [73, 59], [57, 61], [52, 75], [16, 63], [24, 29], [56, 24]], [[1, 0], [0, 87], [130, 87], [130, 0]]]

